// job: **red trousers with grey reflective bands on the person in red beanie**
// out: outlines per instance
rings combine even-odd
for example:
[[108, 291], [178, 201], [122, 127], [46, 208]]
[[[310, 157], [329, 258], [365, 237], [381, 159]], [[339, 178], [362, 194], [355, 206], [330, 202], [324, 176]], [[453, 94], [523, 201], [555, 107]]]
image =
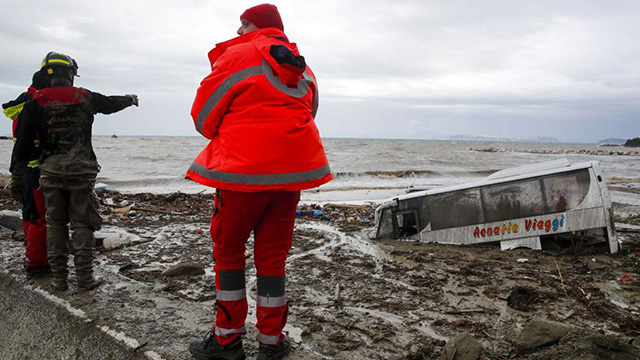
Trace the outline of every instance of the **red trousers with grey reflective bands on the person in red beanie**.
[[277, 345], [284, 337], [289, 307], [285, 262], [293, 239], [299, 191], [219, 190], [211, 218], [216, 274], [216, 322], [221, 345], [246, 333], [245, 244], [254, 234], [258, 341]]

